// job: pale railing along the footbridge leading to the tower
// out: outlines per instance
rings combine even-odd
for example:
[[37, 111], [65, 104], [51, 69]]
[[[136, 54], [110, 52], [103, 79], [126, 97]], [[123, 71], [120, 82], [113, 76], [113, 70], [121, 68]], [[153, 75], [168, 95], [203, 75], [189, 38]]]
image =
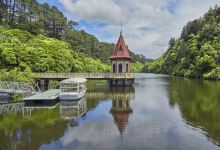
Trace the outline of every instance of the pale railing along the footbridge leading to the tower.
[[134, 79], [134, 73], [34, 73], [37, 79]]

